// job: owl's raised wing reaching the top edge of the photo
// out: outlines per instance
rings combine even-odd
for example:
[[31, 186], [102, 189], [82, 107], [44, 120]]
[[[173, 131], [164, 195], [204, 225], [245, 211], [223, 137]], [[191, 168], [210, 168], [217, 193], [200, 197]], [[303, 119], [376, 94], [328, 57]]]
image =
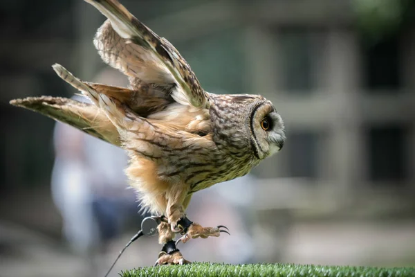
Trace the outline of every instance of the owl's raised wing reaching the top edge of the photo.
[[[132, 78], [162, 88], [182, 105], [208, 102], [190, 65], [167, 39], [142, 24], [116, 0], [85, 0], [109, 20], [94, 39], [102, 60]], [[130, 79], [131, 81], [131, 79]]]

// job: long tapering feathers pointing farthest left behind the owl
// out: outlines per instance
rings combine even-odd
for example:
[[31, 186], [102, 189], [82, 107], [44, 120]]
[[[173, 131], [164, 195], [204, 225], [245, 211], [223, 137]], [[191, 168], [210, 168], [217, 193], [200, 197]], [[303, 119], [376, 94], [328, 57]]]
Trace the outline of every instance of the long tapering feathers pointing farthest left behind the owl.
[[11, 100], [10, 104], [36, 111], [62, 123], [67, 123], [86, 134], [102, 139], [102, 141], [120, 146], [117, 128], [95, 105], [51, 96], [15, 99]]

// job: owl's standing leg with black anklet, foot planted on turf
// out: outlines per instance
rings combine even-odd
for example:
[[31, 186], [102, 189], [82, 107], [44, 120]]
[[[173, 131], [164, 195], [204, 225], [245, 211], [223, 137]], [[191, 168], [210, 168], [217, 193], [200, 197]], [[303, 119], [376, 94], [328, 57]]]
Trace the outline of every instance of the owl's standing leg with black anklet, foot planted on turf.
[[184, 265], [189, 264], [190, 261], [183, 258], [182, 253], [176, 248], [176, 242], [173, 240], [175, 233], [170, 228], [170, 224], [167, 222], [161, 222], [157, 226], [158, 229], [158, 242], [164, 243], [160, 253], [158, 253], [158, 259], [156, 265]]

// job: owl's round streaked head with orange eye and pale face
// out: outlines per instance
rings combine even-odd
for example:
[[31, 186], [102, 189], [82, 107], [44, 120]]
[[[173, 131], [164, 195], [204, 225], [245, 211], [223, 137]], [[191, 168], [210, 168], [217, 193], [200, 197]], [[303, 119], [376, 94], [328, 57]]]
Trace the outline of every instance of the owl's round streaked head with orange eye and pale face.
[[226, 148], [249, 151], [259, 160], [282, 149], [286, 138], [284, 123], [272, 102], [250, 94], [210, 97], [214, 98], [210, 114], [216, 143], [226, 141]]

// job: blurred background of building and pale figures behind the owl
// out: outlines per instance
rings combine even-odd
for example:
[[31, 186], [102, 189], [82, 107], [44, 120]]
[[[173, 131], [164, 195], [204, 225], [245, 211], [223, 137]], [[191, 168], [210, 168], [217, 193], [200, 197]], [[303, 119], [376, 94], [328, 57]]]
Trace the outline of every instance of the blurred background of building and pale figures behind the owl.
[[[232, 235], [181, 245], [185, 258], [415, 265], [415, 1], [122, 3], [205, 90], [259, 93], [286, 123], [282, 152], [194, 195], [190, 219]], [[126, 86], [93, 47], [103, 21], [81, 0], [0, 2], [0, 276], [103, 276], [140, 228], [122, 151], [8, 105], [72, 97], [55, 62]], [[160, 248], [138, 240], [111, 275]]]

